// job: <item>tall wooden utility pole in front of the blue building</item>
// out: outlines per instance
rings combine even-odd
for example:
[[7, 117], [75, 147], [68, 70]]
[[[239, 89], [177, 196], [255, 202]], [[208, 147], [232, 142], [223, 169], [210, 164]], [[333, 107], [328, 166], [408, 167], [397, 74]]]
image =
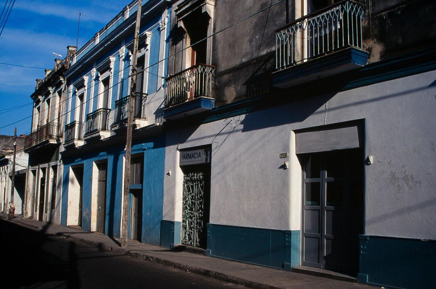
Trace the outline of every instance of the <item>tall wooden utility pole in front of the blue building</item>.
[[[129, 115], [127, 118], [127, 137], [126, 137], [126, 163], [124, 164], [124, 192], [123, 192], [123, 216], [121, 221], [121, 247], [127, 247], [127, 212], [129, 209], [129, 187], [130, 187], [130, 153], [132, 150], [132, 123], [133, 123], [133, 105], [136, 94], [136, 62], [138, 58], [139, 28], [141, 22], [142, 1], [138, 1], [138, 11], [136, 12], [135, 37], [133, 38], [133, 55], [132, 55], [132, 80], [130, 82], [129, 96]], [[142, 92], [142, 91], [141, 91]]]

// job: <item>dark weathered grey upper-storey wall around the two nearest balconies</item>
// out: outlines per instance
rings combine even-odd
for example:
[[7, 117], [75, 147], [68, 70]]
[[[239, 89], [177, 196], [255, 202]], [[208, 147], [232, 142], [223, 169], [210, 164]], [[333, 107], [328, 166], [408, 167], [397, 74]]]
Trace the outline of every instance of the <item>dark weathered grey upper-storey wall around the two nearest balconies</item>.
[[[362, 0], [364, 1], [364, 0]], [[215, 0], [214, 32], [234, 24], [278, 0]], [[175, 3], [177, 5], [177, 3]], [[289, 1], [290, 21], [300, 0]], [[213, 97], [217, 104], [238, 101], [272, 88], [275, 70], [275, 29], [286, 24], [285, 1], [212, 37], [211, 64], [216, 65]], [[174, 11], [171, 19], [175, 19]], [[369, 62], [377, 62], [416, 49], [435, 45], [433, 0], [368, 0], [365, 6], [363, 44]], [[183, 48], [177, 21], [171, 23], [170, 54]], [[182, 53], [170, 57], [168, 74], [182, 69]]]

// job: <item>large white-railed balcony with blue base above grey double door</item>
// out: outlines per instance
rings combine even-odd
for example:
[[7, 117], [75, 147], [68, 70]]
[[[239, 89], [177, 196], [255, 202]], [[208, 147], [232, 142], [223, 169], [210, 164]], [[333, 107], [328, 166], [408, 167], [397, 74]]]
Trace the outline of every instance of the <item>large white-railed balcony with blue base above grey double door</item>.
[[364, 4], [345, 0], [276, 30], [273, 85], [287, 88], [364, 66]]

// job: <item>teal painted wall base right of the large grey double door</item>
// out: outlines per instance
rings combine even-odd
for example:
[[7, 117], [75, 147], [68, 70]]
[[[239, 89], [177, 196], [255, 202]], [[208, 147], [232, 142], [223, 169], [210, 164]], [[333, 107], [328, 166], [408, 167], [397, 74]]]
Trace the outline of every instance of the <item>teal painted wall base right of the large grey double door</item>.
[[360, 236], [358, 280], [390, 288], [435, 288], [436, 240]]

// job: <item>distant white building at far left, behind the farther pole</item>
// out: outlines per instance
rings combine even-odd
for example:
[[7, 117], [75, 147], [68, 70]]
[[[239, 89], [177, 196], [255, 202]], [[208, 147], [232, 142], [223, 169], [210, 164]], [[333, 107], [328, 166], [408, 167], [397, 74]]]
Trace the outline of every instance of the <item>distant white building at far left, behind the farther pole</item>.
[[[25, 136], [17, 137], [17, 153], [15, 156], [14, 205], [15, 214], [24, 211], [24, 196], [27, 176], [27, 153], [24, 153]], [[0, 212], [7, 213], [11, 202], [12, 168], [14, 164], [14, 136], [0, 136]]]

